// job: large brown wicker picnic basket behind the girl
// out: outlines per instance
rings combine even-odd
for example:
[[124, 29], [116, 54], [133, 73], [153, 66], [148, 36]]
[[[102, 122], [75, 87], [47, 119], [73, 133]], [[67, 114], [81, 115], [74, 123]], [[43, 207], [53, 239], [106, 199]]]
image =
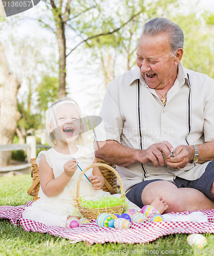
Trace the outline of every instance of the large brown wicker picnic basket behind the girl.
[[[115, 167], [115, 165], [109, 164], [102, 159], [97, 158], [97, 161], [98, 161], [98, 163], [103, 163], [105, 165], [111, 166], [112, 168]], [[36, 158], [31, 159], [31, 169], [32, 169], [31, 177], [32, 177], [33, 184], [28, 189], [28, 194], [30, 196], [33, 196], [33, 201], [36, 201], [37, 199], [39, 199], [38, 192], [39, 192], [39, 187], [40, 187], [39, 167], [36, 163]], [[116, 191], [117, 190], [116, 175], [111, 170], [106, 168], [105, 166], [100, 166], [100, 170], [105, 178], [105, 185], [103, 186], [103, 190], [108, 191], [112, 195], [116, 194], [117, 193], [117, 191]]]

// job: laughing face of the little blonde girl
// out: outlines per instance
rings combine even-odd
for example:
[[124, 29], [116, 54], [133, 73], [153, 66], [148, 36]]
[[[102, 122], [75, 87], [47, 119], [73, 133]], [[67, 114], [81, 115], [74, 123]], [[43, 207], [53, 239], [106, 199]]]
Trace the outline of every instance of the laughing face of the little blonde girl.
[[81, 132], [78, 106], [73, 103], [57, 106], [53, 123], [52, 129], [56, 140], [74, 142]]

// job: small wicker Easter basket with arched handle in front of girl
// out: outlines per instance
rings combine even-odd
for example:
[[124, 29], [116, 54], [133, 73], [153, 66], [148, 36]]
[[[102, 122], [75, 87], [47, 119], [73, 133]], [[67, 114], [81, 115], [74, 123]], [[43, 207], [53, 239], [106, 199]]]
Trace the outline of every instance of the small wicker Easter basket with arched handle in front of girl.
[[99, 209], [98, 208], [91, 209], [91, 208], [83, 207], [83, 206], [80, 205], [80, 198], [79, 197], [80, 197], [80, 182], [81, 182], [81, 179], [82, 179], [83, 175], [87, 172], [87, 170], [94, 167], [94, 166], [98, 166], [99, 168], [101, 168], [101, 167], [107, 168], [112, 173], [115, 174], [115, 176], [118, 179], [118, 182], [121, 185], [121, 198], [125, 198], [123, 183], [122, 183], [121, 177], [118, 175], [116, 170], [114, 168], [112, 168], [111, 166], [109, 166], [107, 164], [103, 164], [103, 163], [91, 164], [83, 170], [83, 172], [80, 174], [79, 179], [77, 181], [77, 195], [76, 195], [75, 201], [77, 203], [77, 206], [79, 208], [79, 211], [80, 211], [81, 215], [84, 218], [87, 218], [87, 219], [96, 219], [103, 212], [107, 212], [108, 214], [110, 214], [110, 213], [122, 214], [122, 212], [124, 211], [124, 205], [117, 205], [117, 206], [113, 206], [113, 207], [105, 207], [105, 208], [99, 208]]

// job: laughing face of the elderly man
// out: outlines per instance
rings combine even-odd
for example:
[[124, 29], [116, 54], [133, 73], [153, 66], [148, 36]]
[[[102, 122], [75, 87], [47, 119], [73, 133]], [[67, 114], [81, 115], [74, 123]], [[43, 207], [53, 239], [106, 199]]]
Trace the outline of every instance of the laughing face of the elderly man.
[[172, 56], [167, 33], [141, 35], [137, 47], [137, 67], [150, 88], [163, 89], [177, 77], [176, 54]]

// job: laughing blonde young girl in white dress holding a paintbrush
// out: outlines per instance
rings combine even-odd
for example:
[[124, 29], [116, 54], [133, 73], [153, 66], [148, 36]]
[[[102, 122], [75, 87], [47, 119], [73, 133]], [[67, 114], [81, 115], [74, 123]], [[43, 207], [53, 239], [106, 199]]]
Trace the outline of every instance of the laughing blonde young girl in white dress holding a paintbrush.
[[[82, 114], [78, 104], [69, 98], [56, 100], [46, 112], [46, 136], [53, 147], [41, 151], [37, 157], [40, 189], [38, 199], [26, 207], [22, 217], [50, 226], [66, 226], [70, 217], [81, 217], [74, 206], [77, 180], [88, 165], [96, 163], [93, 147], [86, 145]], [[79, 166], [80, 167], [79, 167]], [[80, 169], [81, 168], [81, 169]], [[87, 170], [82, 177], [80, 197], [86, 200], [99, 200], [110, 195], [101, 188], [104, 177], [99, 167]], [[165, 209], [165, 203], [159, 202]], [[139, 207], [129, 202], [129, 206]]]

